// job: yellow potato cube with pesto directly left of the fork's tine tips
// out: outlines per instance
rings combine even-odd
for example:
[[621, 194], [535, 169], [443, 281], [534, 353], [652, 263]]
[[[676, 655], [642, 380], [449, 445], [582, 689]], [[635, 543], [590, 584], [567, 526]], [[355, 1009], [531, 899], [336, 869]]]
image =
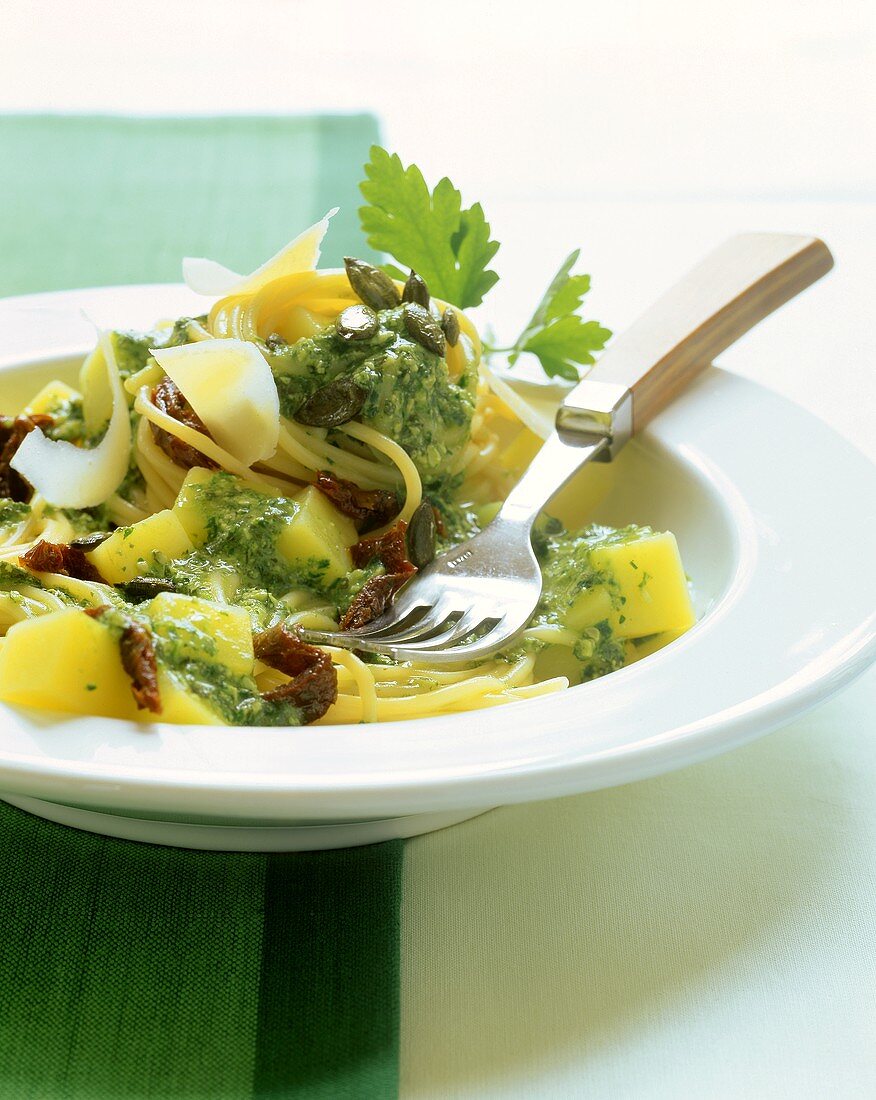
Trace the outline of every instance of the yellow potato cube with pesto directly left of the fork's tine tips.
[[233, 675], [252, 675], [252, 626], [242, 607], [162, 592], [145, 610], [153, 630], [174, 640], [184, 659], [221, 664]]

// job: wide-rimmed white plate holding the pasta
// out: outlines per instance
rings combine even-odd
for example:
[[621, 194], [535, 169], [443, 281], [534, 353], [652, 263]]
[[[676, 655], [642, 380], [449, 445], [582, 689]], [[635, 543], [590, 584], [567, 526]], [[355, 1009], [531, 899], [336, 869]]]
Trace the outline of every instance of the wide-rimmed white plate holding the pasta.
[[[0, 409], [73, 378], [90, 322], [147, 328], [201, 309], [171, 286], [0, 301]], [[775, 394], [705, 372], [571, 498], [592, 520], [677, 534], [700, 616], [689, 634], [557, 695], [375, 726], [143, 727], [2, 707], [0, 791], [165, 844], [364, 844], [680, 768], [789, 721], [873, 660], [874, 468]]]

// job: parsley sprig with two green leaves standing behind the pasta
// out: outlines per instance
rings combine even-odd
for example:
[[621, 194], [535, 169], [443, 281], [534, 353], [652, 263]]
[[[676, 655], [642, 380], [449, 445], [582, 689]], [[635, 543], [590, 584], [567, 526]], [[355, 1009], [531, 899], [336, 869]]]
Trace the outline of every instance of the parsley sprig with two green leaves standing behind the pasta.
[[[405, 167], [401, 157], [380, 145], [371, 147], [365, 177], [359, 186], [368, 206], [360, 207], [359, 217], [368, 243], [416, 271], [435, 297], [460, 309], [480, 306], [499, 282], [488, 267], [499, 242], [490, 239], [480, 202], [463, 208], [462, 196], [447, 176], [430, 191], [415, 164]], [[578, 381], [579, 367], [593, 363], [593, 352], [611, 336], [580, 315], [590, 276], [572, 274], [578, 258], [577, 249], [566, 257], [515, 342], [510, 348], [485, 345], [488, 353], [507, 352], [513, 366], [528, 352], [548, 377]], [[385, 270], [405, 278], [393, 264]]]

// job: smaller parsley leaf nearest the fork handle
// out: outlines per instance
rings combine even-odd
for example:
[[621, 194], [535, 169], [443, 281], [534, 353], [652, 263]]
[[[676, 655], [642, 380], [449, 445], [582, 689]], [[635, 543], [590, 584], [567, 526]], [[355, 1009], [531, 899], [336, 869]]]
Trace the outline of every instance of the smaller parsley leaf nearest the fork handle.
[[560, 265], [539, 301], [529, 323], [514, 342], [508, 355], [508, 366], [525, 351], [536, 355], [549, 378], [561, 377], [577, 382], [579, 366], [594, 363], [594, 351], [600, 351], [611, 336], [599, 321], [585, 321], [578, 314], [584, 295], [590, 289], [589, 275], [572, 275], [580, 250], [576, 249]]

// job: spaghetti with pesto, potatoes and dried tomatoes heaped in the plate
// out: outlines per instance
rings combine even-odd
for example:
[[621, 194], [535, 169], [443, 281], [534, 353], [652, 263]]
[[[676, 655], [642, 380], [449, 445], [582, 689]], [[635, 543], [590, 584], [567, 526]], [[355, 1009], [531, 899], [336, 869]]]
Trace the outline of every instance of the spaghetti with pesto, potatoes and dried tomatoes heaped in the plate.
[[[81, 393], [58, 382], [36, 395], [23, 415], [51, 418], [48, 436], [91, 449], [114, 409], [118, 416], [107, 387], [117, 367], [129, 400], [131, 453], [123, 481], [95, 507], [50, 503], [39, 469], [26, 499], [0, 501], [1, 698], [176, 722], [296, 724], [302, 714], [317, 714], [320, 725], [396, 721], [561, 691], [634, 659], [637, 639], [666, 641], [690, 625], [680, 562], [676, 568], [664, 543], [651, 546], [671, 536], [637, 528], [567, 532], [548, 524], [539, 532], [546, 598], [508, 652], [438, 669], [428, 660], [363, 659], [339, 647], [315, 656], [296, 642], [295, 627], [337, 629], [351, 608], [373, 614], [385, 603], [415, 571], [405, 528], [424, 507], [435, 513], [446, 544], [475, 532], [533, 453], [535, 437], [481, 370], [482, 345], [468, 317], [456, 311], [456, 339], [442, 339], [438, 353], [401, 300], [372, 310], [368, 339], [349, 338], [344, 310], [355, 305], [343, 272], [250, 279], [206, 318], [105, 337], [84, 364]], [[436, 324], [448, 308], [430, 304]], [[215, 438], [219, 429], [227, 437], [240, 409], [222, 409], [197, 385], [178, 394], [185, 415], [156, 403], [165, 374], [152, 352], [197, 345], [205, 371], [220, 377], [226, 341], [254, 344], [278, 394], [277, 447], [251, 464]], [[338, 380], [359, 402], [358, 413], [341, 420], [332, 419], [329, 400]], [[325, 422], [303, 424], [296, 410], [314, 394], [328, 403]], [[271, 415], [255, 386], [242, 400], [251, 402], [248, 415]], [[198, 464], [180, 461], [186, 454], [200, 457]], [[326, 484], [333, 486], [329, 496], [317, 487]], [[348, 498], [355, 508], [338, 503]], [[373, 502], [385, 507], [387, 499], [394, 515], [369, 529]], [[29, 565], [43, 542], [80, 543], [102, 580]], [[638, 602], [618, 558], [629, 557], [631, 546], [639, 575], [648, 578]], [[649, 615], [648, 607], [663, 610]], [[81, 616], [89, 610], [86, 630]], [[113, 671], [101, 656], [110, 644], [118, 648], [131, 624], [154, 642], [150, 660], [166, 702], [160, 713], [134, 710], [119, 686], [125, 670], [117, 660]], [[253, 636], [269, 635], [256, 651], [273, 657], [256, 660]], [[91, 663], [77, 664], [72, 651], [55, 662], [50, 684], [35, 671], [39, 648], [68, 641], [95, 647]], [[28, 660], [34, 674], [25, 684]]]

